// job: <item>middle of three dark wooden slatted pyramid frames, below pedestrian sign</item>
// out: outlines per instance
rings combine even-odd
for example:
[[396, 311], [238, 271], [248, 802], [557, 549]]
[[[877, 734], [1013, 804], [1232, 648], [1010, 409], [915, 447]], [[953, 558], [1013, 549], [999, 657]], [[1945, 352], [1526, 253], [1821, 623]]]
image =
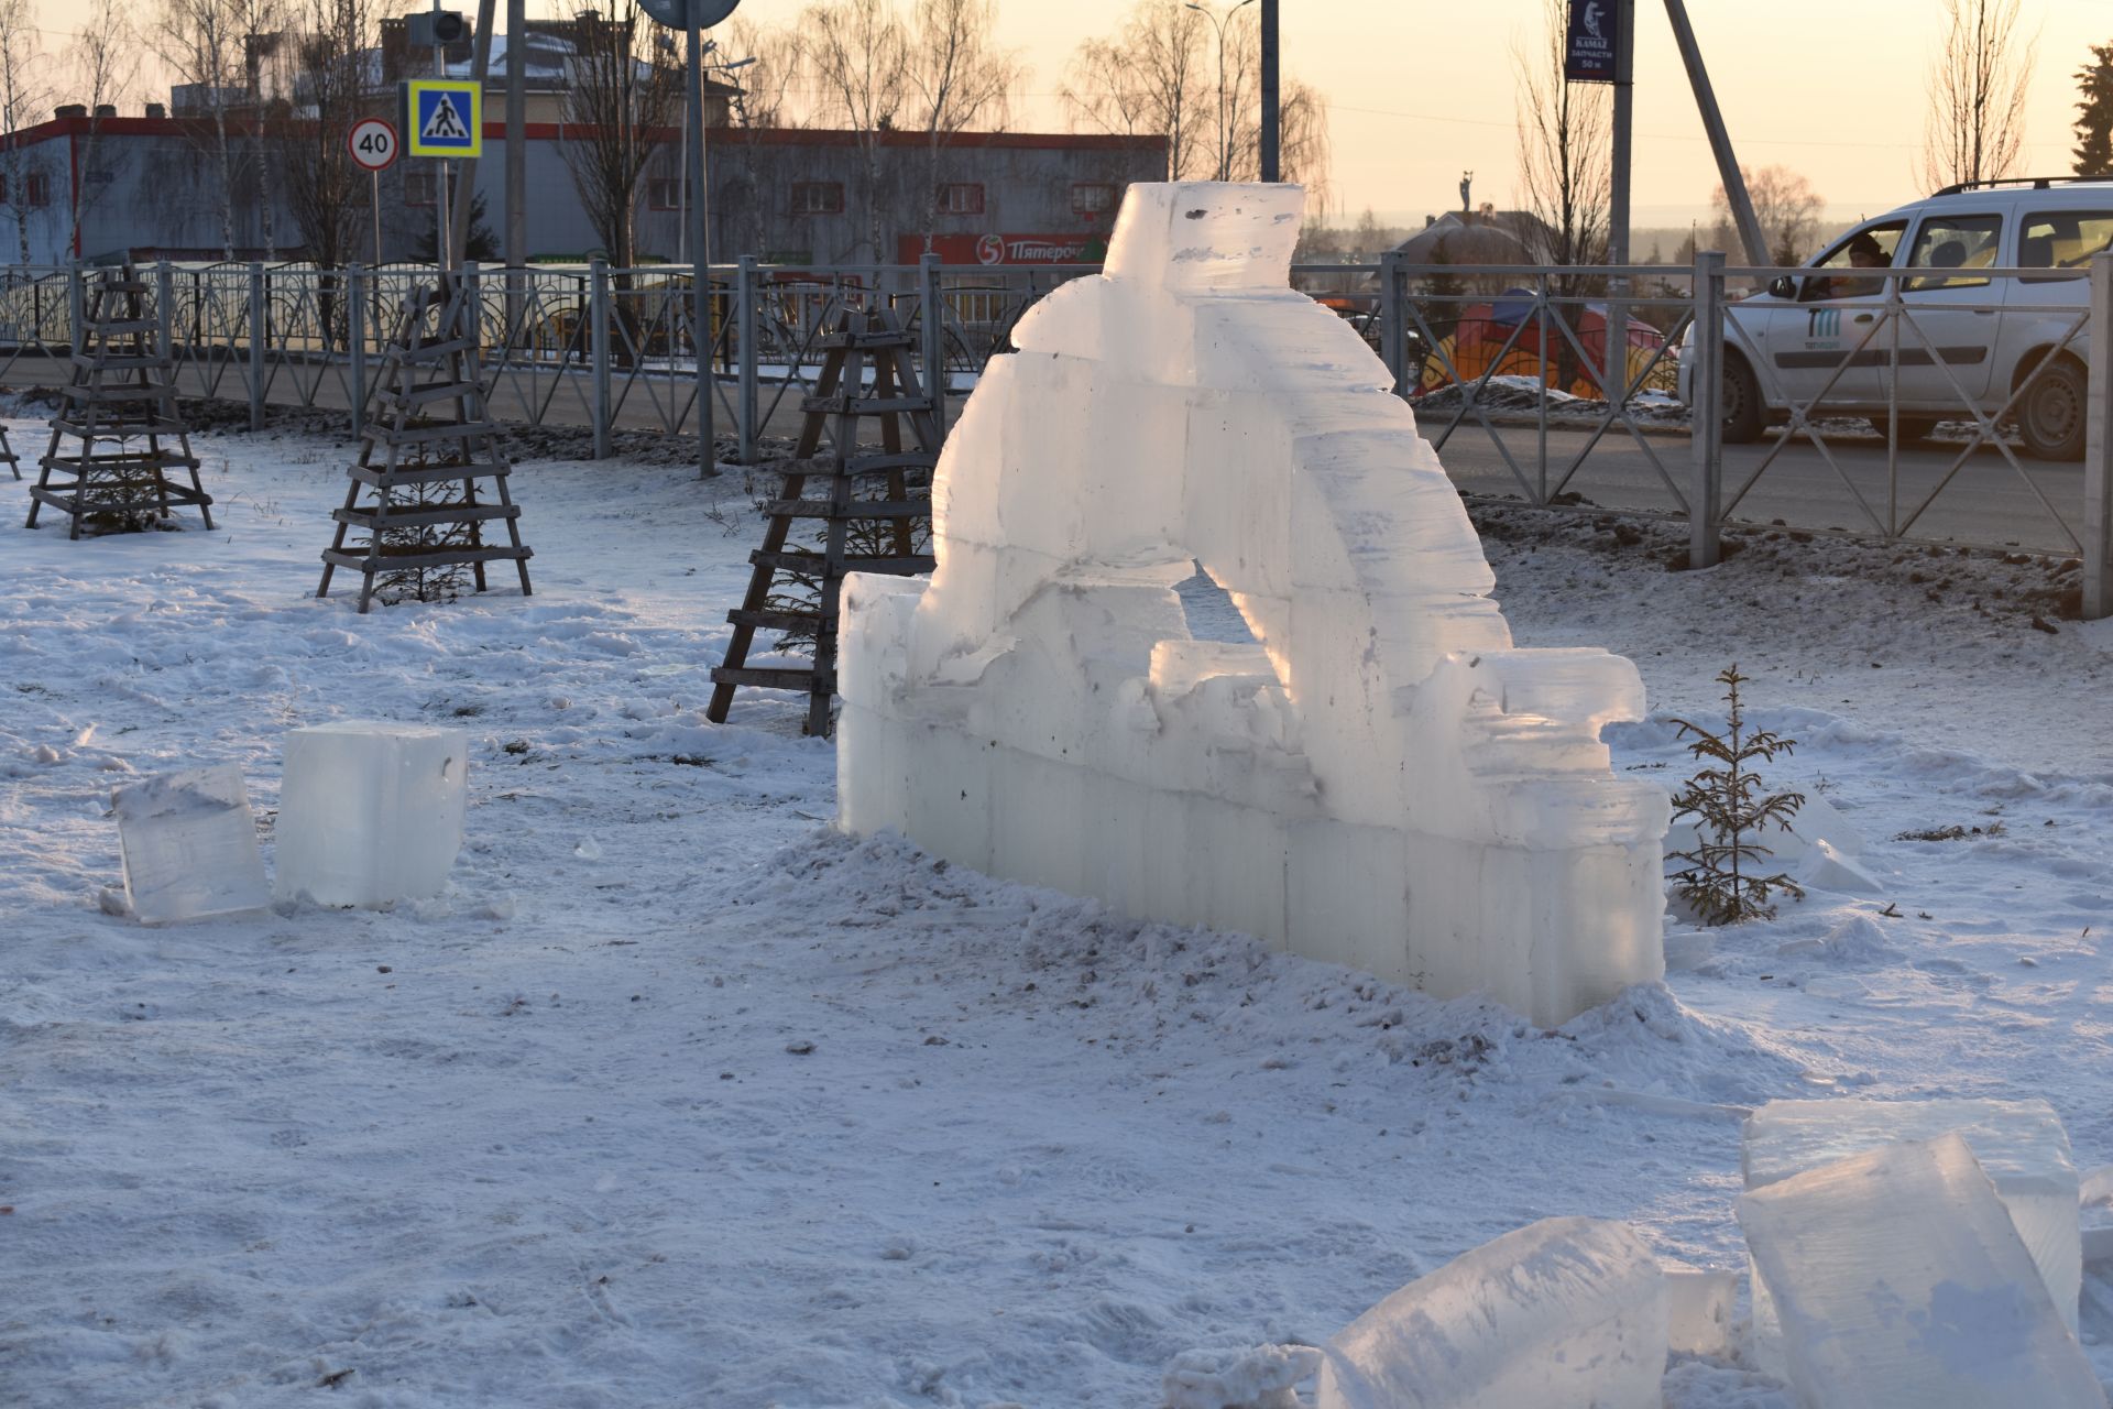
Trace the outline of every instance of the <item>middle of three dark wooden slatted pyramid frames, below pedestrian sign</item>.
[[[486, 414], [478, 332], [475, 294], [454, 273], [442, 270], [433, 287], [418, 285], [404, 300], [363, 418], [344, 507], [332, 509], [338, 532], [323, 549], [315, 596], [330, 594], [338, 568], [359, 572], [361, 615], [374, 602], [374, 579], [397, 572], [467, 566], [484, 591], [488, 562], [511, 562], [522, 596], [530, 596], [535, 549], [522, 545], [522, 511], [507, 490], [513, 467]], [[482, 501], [480, 482], [490, 482]], [[442, 486], [440, 499], [433, 486]], [[361, 490], [372, 492], [368, 503], [359, 501]], [[505, 545], [484, 541], [484, 526], [494, 522], [507, 528]], [[361, 530], [366, 541], [347, 545], [351, 530]]]

